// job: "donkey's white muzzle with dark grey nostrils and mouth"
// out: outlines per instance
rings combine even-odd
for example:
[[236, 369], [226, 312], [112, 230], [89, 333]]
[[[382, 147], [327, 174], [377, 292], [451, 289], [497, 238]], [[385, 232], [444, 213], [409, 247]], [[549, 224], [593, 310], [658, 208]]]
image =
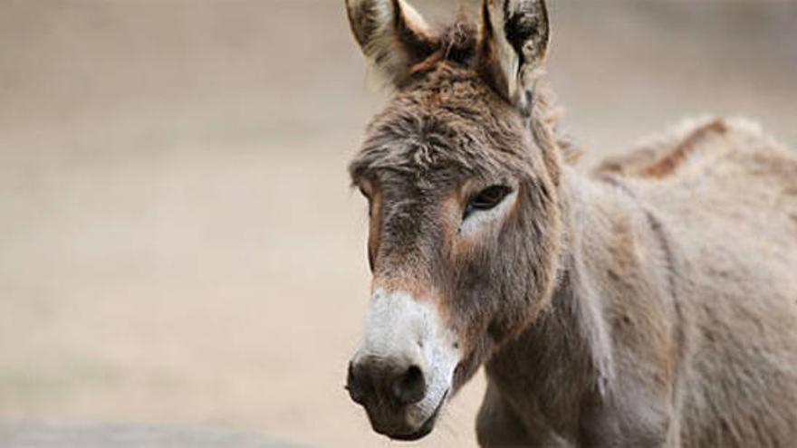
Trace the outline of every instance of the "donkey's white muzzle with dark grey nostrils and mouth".
[[346, 388], [365, 408], [374, 431], [415, 440], [434, 427], [458, 360], [456, 335], [441, 322], [432, 300], [378, 288]]

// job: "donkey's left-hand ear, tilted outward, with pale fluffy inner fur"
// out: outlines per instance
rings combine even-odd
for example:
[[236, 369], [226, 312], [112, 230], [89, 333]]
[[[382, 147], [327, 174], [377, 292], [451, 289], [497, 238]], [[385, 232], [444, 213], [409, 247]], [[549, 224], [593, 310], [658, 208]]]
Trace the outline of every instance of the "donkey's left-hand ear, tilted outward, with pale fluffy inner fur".
[[404, 0], [346, 0], [346, 7], [362, 52], [395, 85], [437, 48], [437, 37]]

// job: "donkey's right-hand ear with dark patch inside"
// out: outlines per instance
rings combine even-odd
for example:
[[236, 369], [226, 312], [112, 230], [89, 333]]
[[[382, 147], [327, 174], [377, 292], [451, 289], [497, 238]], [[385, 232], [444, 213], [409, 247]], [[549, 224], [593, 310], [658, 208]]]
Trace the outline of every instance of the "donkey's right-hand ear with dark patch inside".
[[479, 71], [506, 100], [528, 112], [550, 40], [545, 0], [484, 0]]

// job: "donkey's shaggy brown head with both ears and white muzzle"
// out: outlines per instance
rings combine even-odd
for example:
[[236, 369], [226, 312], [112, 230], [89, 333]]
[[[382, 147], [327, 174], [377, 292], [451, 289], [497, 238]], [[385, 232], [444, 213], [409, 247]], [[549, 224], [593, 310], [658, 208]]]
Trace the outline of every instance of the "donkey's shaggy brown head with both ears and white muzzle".
[[535, 88], [548, 17], [543, 0], [485, 0], [480, 25], [435, 32], [403, 0], [347, 6], [396, 88], [350, 166], [373, 296], [348, 388], [374, 430], [412, 440], [551, 296], [561, 157]]

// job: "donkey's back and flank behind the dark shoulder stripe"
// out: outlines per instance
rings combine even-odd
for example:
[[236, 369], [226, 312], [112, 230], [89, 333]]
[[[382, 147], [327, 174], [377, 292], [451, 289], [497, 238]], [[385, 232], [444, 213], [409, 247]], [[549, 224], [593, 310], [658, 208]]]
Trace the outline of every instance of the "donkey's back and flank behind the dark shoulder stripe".
[[713, 119], [597, 175], [635, 196], [675, 245], [684, 446], [794, 443], [797, 154], [748, 122]]

